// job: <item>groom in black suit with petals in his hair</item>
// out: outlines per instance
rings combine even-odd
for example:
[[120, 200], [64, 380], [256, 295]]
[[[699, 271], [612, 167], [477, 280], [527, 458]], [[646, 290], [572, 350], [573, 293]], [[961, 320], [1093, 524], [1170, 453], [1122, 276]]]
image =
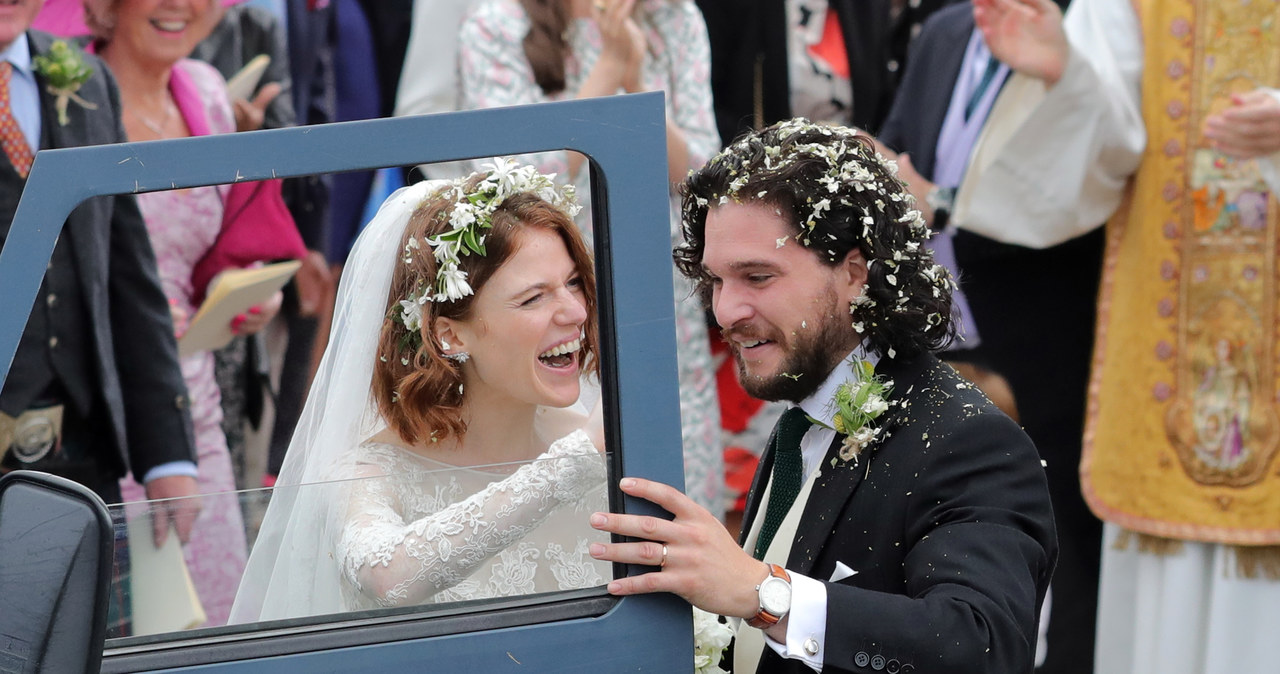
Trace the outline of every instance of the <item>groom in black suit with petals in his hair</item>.
[[622, 480], [675, 519], [591, 517], [639, 540], [595, 558], [658, 567], [609, 591], [741, 618], [739, 674], [1030, 671], [1057, 555], [1044, 473], [932, 354], [952, 335], [954, 283], [893, 169], [850, 129], [791, 120], [730, 146], [684, 194], [677, 266], [746, 390], [794, 407], [742, 541], [675, 489]]

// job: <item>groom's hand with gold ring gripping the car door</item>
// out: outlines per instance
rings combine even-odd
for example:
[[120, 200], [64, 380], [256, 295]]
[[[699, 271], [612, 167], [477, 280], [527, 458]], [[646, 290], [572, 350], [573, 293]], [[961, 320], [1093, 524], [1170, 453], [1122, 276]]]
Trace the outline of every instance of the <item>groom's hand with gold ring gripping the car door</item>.
[[591, 556], [623, 564], [666, 565], [649, 573], [609, 583], [613, 595], [673, 592], [699, 609], [737, 618], [750, 618], [759, 609], [755, 586], [768, 567], [748, 555], [719, 519], [678, 490], [625, 477], [622, 491], [660, 505], [676, 515], [667, 521], [648, 515], [595, 513], [591, 526], [611, 533], [644, 538], [622, 544], [593, 544]]

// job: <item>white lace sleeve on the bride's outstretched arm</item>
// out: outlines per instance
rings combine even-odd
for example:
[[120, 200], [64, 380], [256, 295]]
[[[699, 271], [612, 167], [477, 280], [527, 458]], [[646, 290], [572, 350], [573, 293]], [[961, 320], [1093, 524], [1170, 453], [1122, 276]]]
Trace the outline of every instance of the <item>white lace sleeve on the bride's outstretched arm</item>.
[[421, 604], [604, 482], [604, 459], [575, 431], [509, 477], [420, 519], [397, 510], [404, 489], [357, 480], [338, 542], [348, 583], [383, 606]]

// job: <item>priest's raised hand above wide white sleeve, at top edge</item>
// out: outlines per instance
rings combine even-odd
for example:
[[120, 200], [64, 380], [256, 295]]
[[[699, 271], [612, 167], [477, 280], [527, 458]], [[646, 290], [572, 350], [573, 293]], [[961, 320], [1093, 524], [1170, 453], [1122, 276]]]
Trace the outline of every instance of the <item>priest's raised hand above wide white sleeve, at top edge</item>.
[[1000, 61], [1050, 87], [1066, 70], [1070, 46], [1052, 0], [974, 0], [973, 19]]

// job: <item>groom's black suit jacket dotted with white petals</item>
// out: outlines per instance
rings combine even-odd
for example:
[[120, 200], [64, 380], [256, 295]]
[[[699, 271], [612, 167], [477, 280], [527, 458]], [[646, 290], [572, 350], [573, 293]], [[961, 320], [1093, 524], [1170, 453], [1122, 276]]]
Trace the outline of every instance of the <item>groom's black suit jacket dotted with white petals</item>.
[[[1057, 555], [1036, 448], [931, 354], [886, 358], [877, 372], [902, 404], [856, 464], [838, 460], [836, 437], [787, 558], [823, 582], [836, 561], [858, 572], [826, 582], [823, 671], [874, 674], [896, 660], [919, 674], [1029, 673]], [[765, 454], [744, 532], [772, 464]], [[765, 648], [759, 671], [810, 670]]]

